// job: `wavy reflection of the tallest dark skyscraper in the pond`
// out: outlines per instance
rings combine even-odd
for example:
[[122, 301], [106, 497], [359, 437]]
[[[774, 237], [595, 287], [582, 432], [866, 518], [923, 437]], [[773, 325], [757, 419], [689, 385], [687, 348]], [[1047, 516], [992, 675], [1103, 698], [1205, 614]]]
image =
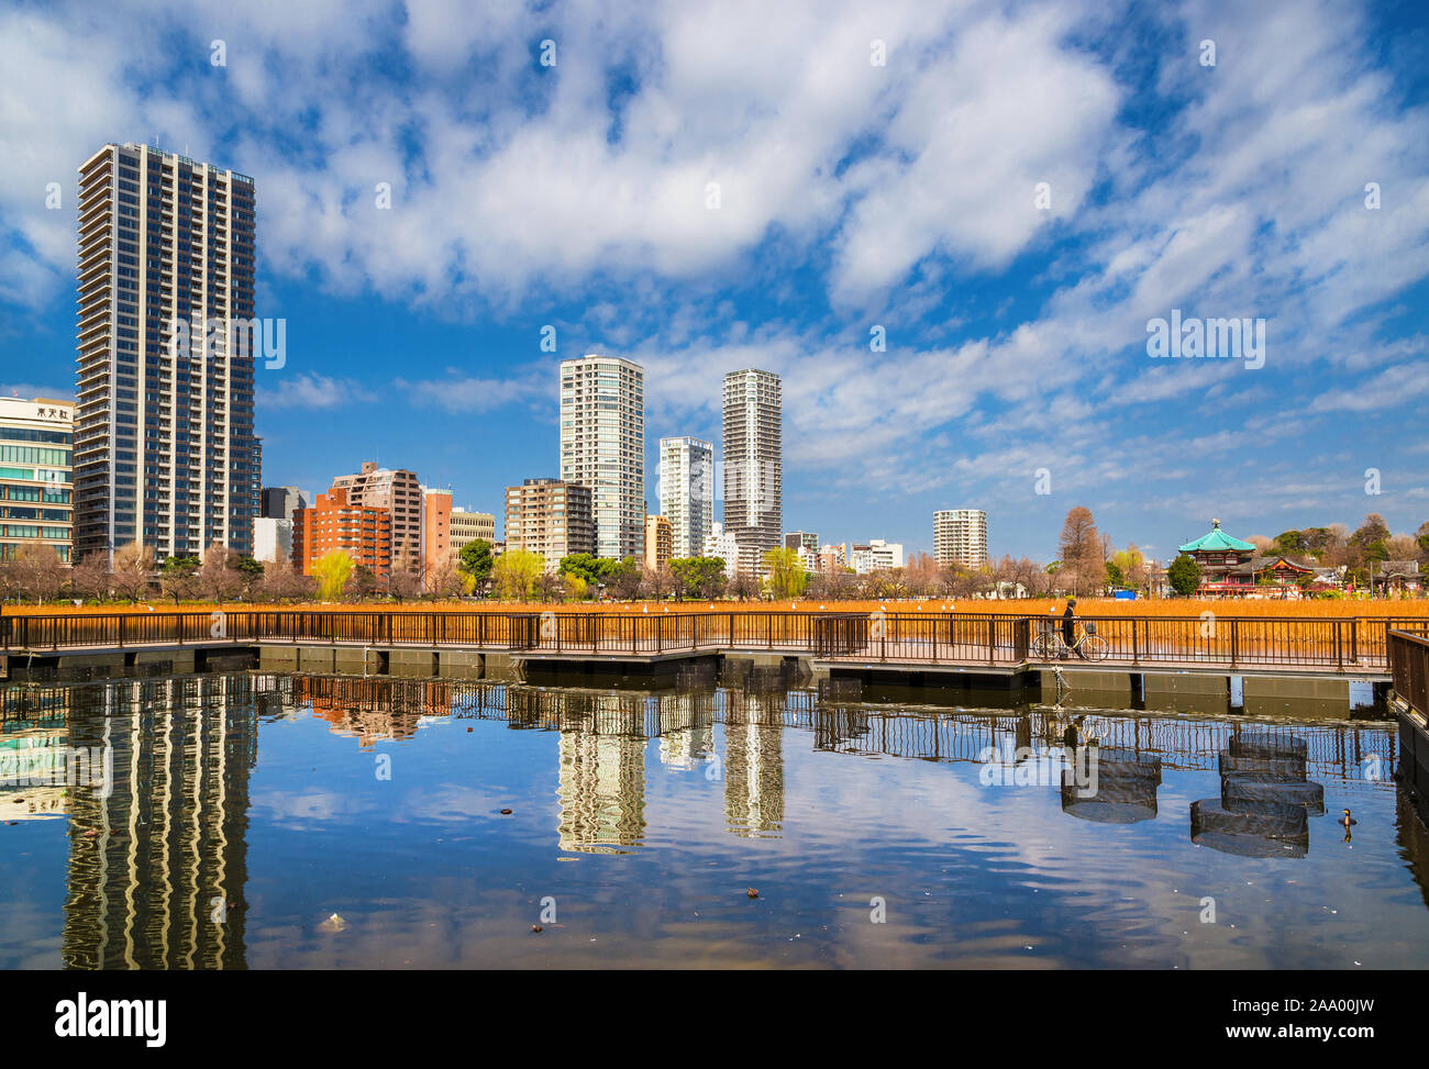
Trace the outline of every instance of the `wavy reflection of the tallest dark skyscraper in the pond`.
[[252, 686], [113, 683], [71, 710], [71, 746], [109, 746], [113, 782], [71, 787], [66, 968], [244, 968]]

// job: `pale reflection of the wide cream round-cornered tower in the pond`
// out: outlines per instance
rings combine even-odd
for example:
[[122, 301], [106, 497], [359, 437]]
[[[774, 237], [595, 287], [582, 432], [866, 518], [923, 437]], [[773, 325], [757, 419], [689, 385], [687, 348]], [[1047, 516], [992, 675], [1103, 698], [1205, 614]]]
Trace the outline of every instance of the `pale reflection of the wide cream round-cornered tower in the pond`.
[[[634, 699], [643, 703], [643, 699]], [[644, 837], [644, 735], [590, 730], [639, 723], [632, 696], [590, 699], [584, 727], [560, 732], [560, 849], [624, 853]]]

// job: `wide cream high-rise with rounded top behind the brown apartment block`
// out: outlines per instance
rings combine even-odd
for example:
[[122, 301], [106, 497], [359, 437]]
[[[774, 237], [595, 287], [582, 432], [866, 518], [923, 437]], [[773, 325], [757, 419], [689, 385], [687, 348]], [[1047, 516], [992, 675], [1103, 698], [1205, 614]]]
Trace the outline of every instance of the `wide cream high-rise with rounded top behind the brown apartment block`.
[[613, 356], [560, 362], [560, 480], [590, 487], [596, 556], [644, 553], [644, 370]]

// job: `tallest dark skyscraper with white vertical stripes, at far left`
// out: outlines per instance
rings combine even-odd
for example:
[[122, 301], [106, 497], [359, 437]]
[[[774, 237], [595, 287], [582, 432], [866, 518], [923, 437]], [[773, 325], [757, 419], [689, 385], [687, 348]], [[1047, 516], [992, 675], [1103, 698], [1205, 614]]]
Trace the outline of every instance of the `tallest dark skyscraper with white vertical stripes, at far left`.
[[76, 557], [253, 552], [253, 179], [144, 144], [80, 164]]

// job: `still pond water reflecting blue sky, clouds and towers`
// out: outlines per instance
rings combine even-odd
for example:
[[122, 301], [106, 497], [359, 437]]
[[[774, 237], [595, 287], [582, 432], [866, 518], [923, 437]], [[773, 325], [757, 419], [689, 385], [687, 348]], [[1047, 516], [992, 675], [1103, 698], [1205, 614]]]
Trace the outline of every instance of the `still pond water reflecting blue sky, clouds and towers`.
[[[1429, 966], [1393, 725], [1348, 712], [1275, 717], [1328, 816], [1243, 856], [1189, 810], [1263, 717], [252, 673], [3, 709], [7, 969]], [[1149, 807], [980, 760], [1073, 713], [1160, 757]]]

